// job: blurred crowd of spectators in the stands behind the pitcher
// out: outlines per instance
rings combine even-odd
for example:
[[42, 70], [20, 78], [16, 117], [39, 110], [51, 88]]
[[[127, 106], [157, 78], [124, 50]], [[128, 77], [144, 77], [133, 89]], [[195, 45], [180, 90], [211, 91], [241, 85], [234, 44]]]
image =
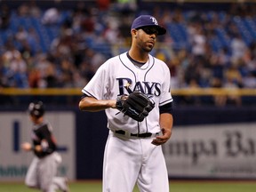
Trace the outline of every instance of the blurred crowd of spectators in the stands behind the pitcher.
[[[161, 49], [152, 52], [169, 66], [173, 89], [256, 88], [256, 36], [246, 39], [238, 22], [251, 20], [251, 27], [256, 29], [256, 4], [230, 4], [225, 12], [203, 12], [182, 10], [180, 6], [174, 9], [156, 6], [152, 10], [140, 10], [131, 4], [121, 8], [116, 4], [87, 7], [80, 2], [62, 20], [63, 11], [59, 8], [44, 11], [36, 4], [22, 4], [16, 10], [2, 4], [0, 12], [1, 31], [11, 30], [12, 14], [40, 18], [42, 25], [58, 27], [58, 36], [45, 51], [39, 46], [40, 36], [35, 28], [20, 25], [9, 33], [0, 49], [0, 87], [82, 88], [105, 60], [129, 47], [127, 37], [132, 20], [140, 13], [148, 13], [167, 29], [170, 24], [186, 29], [185, 44], [179, 46], [172, 30], [168, 30], [167, 36], [158, 39], [158, 44], [168, 47], [168, 52]], [[223, 42], [213, 44], [220, 32]], [[108, 53], [92, 48], [92, 44], [101, 43], [109, 44]], [[223, 105], [227, 99], [215, 101]], [[236, 97], [229, 100], [241, 102]]]

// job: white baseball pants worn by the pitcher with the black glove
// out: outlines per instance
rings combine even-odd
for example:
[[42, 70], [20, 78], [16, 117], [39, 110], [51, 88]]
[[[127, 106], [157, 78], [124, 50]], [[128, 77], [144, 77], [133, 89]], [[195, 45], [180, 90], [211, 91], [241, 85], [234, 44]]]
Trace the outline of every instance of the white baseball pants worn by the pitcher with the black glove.
[[169, 180], [161, 146], [152, 138], [129, 139], [109, 131], [103, 164], [103, 192], [169, 192]]

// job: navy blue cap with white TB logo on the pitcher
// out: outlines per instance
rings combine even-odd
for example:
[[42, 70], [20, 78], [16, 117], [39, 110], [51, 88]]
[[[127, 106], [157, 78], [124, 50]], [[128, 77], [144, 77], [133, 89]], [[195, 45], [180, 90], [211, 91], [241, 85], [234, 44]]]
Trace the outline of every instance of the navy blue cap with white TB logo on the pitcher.
[[[142, 28], [142, 27], [156, 27], [158, 30], [158, 36], [162, 36], [166, 33], [166, 29], [158, 25], [155, 17], [151, 15], [140, 15], [132, 22], [132, 28]], [[131, 29], [132, 29], [131, 28]]]

